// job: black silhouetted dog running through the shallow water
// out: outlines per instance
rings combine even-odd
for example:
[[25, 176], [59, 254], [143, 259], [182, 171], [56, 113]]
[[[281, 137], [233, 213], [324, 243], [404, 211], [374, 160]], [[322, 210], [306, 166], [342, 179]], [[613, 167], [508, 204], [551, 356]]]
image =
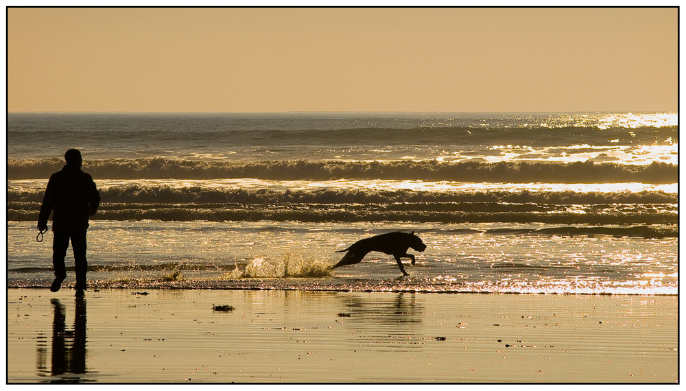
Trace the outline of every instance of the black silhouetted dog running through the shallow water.
[[409, 276], [410, 274], [405, 272], [405, 268], [403, 267], [403, 263], [400, 261], [400, 259], [410, 258], [412, 259], [412, 265], [414, 265], [414, 255], [407, 254], [407, 250], [410, 247], [419, 252], [422, 252], [427, 248], [422, 239], [420, 239], [417, 235], [414, 235], [414, 231], [412, 231], [412, 233], [404, 233], [399, 231], [368, 237], [355, 242], [353, 246], [350, 246], [345, 250], [336, 251], [347, 251], [348, 253], [345, 254], [343, 259], [336, 263], [332, 269], [339, 268], [343, 265], [354, 265], [355, 263], [360, 263], [364, 256], [368, 254], [368, 252], [379, 251], [383, 252], [384, 254], [394, 256], [400, 271], [403, 272], [403, 275]]

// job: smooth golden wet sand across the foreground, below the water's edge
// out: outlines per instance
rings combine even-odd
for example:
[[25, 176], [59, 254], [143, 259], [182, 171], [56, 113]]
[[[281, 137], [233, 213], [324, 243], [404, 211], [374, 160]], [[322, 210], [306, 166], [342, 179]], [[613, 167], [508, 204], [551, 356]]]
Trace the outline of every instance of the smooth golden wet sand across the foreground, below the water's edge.
[[678, 296], [7, 292], [8, 383], [678, 381]]

